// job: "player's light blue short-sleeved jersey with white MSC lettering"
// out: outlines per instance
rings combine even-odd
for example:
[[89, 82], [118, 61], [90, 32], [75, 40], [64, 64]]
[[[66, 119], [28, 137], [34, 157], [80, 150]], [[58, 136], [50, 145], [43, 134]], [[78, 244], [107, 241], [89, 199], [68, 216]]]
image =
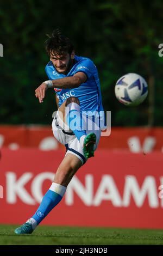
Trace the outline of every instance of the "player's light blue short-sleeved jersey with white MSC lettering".
[[104, 111], [102, 106], [101, 88], [98, 78], [98, 71], [89, 58], [75, 56], [71, 70], [66, 74], [60, 74], [54, 68], [52, 62], [46, 65], [46, 74], [49, 80], [55, 80], [73, 76], [77, 72], [84, 72], [87, 76], [85, 83], [72, 89], [54, 89], [59, 99], [59, 106], [70, 96], [78, 97], [81, 111]]

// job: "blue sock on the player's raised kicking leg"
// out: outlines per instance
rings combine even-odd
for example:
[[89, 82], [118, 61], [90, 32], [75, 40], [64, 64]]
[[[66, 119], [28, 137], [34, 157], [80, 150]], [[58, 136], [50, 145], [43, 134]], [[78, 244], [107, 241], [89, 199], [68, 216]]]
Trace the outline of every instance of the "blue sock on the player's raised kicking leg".
[[80, 114], [80, 106], [77, 103], [70, 103], [66, 107], [66, 121], [70, 129], [76, 135], [78, 141], [82, 136], [86, 136], [86, 131], [84, 130], [84, 120], [82, 120], [82, 115]]

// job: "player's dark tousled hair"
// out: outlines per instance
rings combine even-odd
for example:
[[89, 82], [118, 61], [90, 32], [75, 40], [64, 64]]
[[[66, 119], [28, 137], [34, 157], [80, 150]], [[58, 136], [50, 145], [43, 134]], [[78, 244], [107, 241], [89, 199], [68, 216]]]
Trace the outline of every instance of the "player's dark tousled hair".
[[74, 46], [69, 38], [62, 35], [59, 29], [55, 29], [52, 35], [47, 35], [48, 39], [45, 41], [45, 48], [47, 53], [50, 55], [52, 53], [57, 53], [58, 55], [63, 55], [65, 53], [71, 54], [74, 50]]

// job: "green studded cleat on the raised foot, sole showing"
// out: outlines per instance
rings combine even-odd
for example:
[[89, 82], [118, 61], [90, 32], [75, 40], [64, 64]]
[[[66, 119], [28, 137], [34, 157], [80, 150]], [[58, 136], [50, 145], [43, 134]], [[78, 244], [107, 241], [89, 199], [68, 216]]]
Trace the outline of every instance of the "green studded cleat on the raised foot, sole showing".
[[84, 139], [83, 152], [86, 159], [94, 156], [94, 145], [96, 144], [96, 135], [91, 132]]

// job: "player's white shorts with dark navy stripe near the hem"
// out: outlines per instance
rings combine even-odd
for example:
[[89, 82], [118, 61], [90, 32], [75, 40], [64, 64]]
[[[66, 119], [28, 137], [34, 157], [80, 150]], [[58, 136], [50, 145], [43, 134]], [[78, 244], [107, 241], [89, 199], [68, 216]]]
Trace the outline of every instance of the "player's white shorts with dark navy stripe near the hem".
[[[92, 119], [88, 118], [88, 127], [92, 127]], [[66, 127], [66, 129], [65, 129]], [[57, 114], [55, 115], [53, 122], [52, 122], [52, 129], [53, 129], [53, 135], [54, 137], [61, 143], [64, 144], [66, 147], [66, 155], [68, 153], [71, 153], [80, 159], [82, 161], [82, 164], [86, 162], [86, 158], [83, 153], [83, 148], [80, 145], [77, 137], [74, 135], [72, 130], [64, 124], [62, 119], [59, 117], [59, 111], [57, 111]], [[66, 131], [65, 131], [65, 130]], [[101, 136], [101, 129], [93, 123], [92, 130], [86, 130], [86, 134], [89, 134], [91, 132], [94, 132], [96, 134], [96, 144], [94, 145], [94, 149], [97, 149], [99, 139]]]

